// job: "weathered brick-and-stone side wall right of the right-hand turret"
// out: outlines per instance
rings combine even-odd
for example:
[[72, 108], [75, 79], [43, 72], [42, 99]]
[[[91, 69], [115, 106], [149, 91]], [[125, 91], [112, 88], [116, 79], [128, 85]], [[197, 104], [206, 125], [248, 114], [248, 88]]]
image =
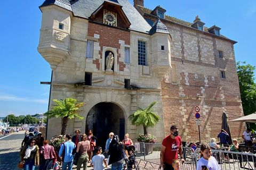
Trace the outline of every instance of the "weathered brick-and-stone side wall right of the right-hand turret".
[[[135, 7], [145, 19], [157, 20], [147, 8]], [[162, 80], [165, 134], [175, 124], [183, 141], [198, 142], [194, 109], [199, 106], [201, 142], [209, 142], [220, 133], [223, 112], [243, 116], [233, 46], [236, 42], [188, 27], [184, 21], [179, 24], [167, 18], [162, 22], [172, 37], [172, 70]], [[220, 71], [225, 72], [225, 78]], [[228, 115], [229, 120], [237, 118], [234, 115]], [[229, 127], [231, 137], [241, 139], [244, 124], [232, 122]]]

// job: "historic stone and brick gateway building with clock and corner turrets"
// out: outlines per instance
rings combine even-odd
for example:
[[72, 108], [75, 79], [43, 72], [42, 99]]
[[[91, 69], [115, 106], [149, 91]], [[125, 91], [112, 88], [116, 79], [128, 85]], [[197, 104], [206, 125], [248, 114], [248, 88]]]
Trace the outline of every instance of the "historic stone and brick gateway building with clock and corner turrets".
[[[109, 132], [131, 139], [143, 133], [128, 117], [153, 101], [161, 120], [149, 128], [162, 142], [177, 125], [183, 141], [198, 142], [195, 106], [200, 107], [201, 141], [217, 138], [221, 115], [242, 116], [233, 45], [219, 27], [206, 28], [149, 10], [143, 0], [46, 0], [41, 6], [38, 52], [51, 65], [52, 99], [76, 98], [87, 105], [83, 120], [67, 133], [92, 129], [97, 145]], [[47, 138], [60, 133], [60, 118], [48, 122]], [[230, 124], [241, 137], [243, 123]], [[164, 132], [164, 133], [163, 133]]]

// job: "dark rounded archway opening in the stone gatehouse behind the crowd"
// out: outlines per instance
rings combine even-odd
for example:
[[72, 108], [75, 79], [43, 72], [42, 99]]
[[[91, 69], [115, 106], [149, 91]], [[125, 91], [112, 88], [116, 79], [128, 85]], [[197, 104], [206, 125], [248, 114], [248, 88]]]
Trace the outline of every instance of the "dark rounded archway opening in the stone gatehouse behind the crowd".
[[114, 132], [124, 139], [125, 117], [123, 110], [114, 103], [98, 103], [94, 105], [86, 117], [85, 132], [92, 130], [97, 137], [96, 145], [105, 149], [106, 140], [110, 132]]

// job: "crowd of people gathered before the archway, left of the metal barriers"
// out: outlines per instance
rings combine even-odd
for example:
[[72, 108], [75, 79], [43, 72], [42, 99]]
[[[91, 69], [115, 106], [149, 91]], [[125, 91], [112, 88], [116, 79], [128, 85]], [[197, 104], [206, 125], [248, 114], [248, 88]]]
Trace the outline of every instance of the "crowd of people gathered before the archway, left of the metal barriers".
[[[125, 139], [121, 142], [118, 135], [113, 132], [109, 133], [109, 139], [106, 141], [105, 151], [108, 154], [108, 159], [105, 161], [105, 156], [102, 155], [102, 148], [96, 146], [97, 137], [93, 135], [92, 130], [89, 130], [88, 135], [81, 133], [79, 129], [75, 130], [76, 135], [65, 135], [65, 143], [63, 143], [58, 152], [61, 159], [62, 169], [72, 169], [73, 164], [77, 165], [77, 169], [87, 168], [87, 164], [95, 170], [110, 167], [112, 170], [121, 170], [124, 165], [124, 160], [127, 159], [127, 169], [132, 169], [134, 163], [137, 162], [133, 151], [128, 146], [131, 146], [132, 140], [129, 139], [129, 134], [125, 134]], [[21, 143], [20, 165], [23, 165], [24, 170], [34, 170], [36, 166], [40, 166], [40, 170], [52, 169], [58, 165], [57, 155], [54, 147], [49, 145], [48, 140], [44, 140], [42, 133], [37, 130], [34, 133], [25, 132], [25, 138]], [[92, 156], [92, 151], [95, 151], [95, 156]]]

